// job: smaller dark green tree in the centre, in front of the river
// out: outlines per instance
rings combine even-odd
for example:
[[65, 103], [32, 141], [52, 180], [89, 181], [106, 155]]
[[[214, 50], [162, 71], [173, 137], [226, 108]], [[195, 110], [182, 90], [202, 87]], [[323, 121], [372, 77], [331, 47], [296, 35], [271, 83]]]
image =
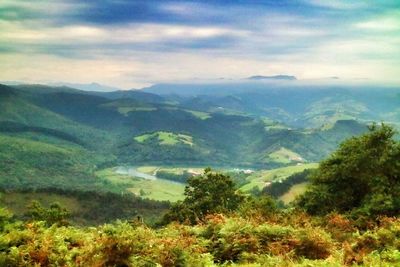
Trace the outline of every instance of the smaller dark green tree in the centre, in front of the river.
[[173, 205], [164, 216], [164, 223], [171, 221], [195, 223], [207, 214], [236, 210], [244, 200], [228, 175], [213, 172], [210, 168], [204, 170], [204, 175], [188, 179], [184, 195], [185, 199]]

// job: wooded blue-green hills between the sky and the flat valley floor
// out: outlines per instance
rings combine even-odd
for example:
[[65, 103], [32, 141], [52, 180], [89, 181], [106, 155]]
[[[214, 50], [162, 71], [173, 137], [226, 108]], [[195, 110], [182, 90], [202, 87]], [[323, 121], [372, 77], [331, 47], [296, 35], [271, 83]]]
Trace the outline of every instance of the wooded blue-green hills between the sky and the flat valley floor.
[[[358, 98], [349, 98], [344, 89], [294, 94], [295, 89], [256, 88], [225, 95], [223, 90], [208, 95], [205, 90], [204, 95], [173, 96], [154, 94], [154, 88], [87, 92], [1, 85], [1, 153], [5, 162], [12, 162], [3, 165], [8, 171], [3, 170], [1, 178], [13, 181], [10, 186], [43, 187], [47, 182], [57, 186], [69, 179], [66, 184], [82, 181], [82, 186], [92, 183], [106, 188], [110, 185], [104, 185], [95, 172], [118, 165], [263, 169], [316, 162], [343, 139], [366, 130], [367, 120], [361, 115], [369, 114], [365, 106], [371, 100], [363, 99], [357, 106], [354, 103], [361, 98], [356, 93]], [[333, 92], [343, 94], [326, 100]], [[381, 98], [389, 93], [384, 91]], [[312, 123], [294, 127], [288, 122]], [[25, 162], [21, 147], [38, 162]], [[13, 164], [21, 172], [10, 172]]]

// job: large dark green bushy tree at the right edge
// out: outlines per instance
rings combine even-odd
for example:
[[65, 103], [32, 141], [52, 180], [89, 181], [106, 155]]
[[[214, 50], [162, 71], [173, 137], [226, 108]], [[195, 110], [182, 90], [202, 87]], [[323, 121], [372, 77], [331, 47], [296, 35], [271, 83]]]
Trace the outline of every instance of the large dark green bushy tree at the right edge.
[[343, 142], [311, 176], [298, 205], [311, 214], [361, 212], [366, 216], [400, 213], [400, 144], [392, 127]]

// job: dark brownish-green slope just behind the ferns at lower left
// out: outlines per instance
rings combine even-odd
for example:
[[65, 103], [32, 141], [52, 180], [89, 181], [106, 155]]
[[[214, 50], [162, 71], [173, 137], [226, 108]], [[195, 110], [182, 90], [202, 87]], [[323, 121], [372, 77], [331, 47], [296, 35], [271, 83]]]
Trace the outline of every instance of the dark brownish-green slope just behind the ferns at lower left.
[[0, 203], [7, 206], [18, 219], [49, 221], [51, 204], [54, 202], [60, 203], [68, 210], [68, 221], [72, 225], [98, 225], [117, 219], [132, 220], [137, 217], [148, 224], [154, 224], [170, 207], [169, 202], [142, 199], [130, 193], [121, 195], [58, 188], [4, 192], [0, 198]]

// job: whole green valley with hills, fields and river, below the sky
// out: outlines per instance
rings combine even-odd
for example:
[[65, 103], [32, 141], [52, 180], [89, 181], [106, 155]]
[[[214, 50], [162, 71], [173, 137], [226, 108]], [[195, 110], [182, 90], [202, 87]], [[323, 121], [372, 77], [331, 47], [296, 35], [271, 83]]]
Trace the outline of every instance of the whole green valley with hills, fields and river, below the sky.
[[189, 177], [212, 167], [259, 194], [316, 168], [389, 111], [398, 125], [398, 101], [392, 88], [298, 90], [253, 80], [114, 92], [0, 85], [0, 185], [176, 202]]

